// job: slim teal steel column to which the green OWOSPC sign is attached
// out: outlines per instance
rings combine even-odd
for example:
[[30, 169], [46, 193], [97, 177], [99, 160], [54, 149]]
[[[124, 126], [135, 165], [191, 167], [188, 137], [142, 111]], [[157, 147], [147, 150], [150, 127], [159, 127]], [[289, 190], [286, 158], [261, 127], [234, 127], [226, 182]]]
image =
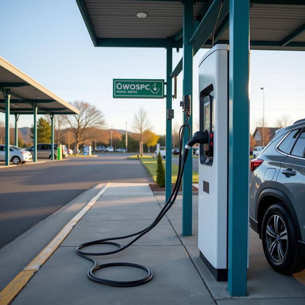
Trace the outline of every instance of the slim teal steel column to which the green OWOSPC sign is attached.
[[[168, 41], [169, 42], [169, 41]], [[172, 149], [172, 120], [167, 118], [167, 109], [172, 108], [172, 79], [170, 74], [173, 69], [173, 49], [167, 46], [166, 49], [166, 137], [165, 137], [165, 201], [171, 194], [171, 149]]]

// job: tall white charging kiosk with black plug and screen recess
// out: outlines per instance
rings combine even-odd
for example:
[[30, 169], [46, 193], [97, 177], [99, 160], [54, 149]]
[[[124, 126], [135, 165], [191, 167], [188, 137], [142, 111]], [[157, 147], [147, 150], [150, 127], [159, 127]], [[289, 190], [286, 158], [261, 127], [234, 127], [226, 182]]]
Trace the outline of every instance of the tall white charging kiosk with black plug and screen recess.
[[228, 280], [228, 45], [217, 44], [199, 63], [198, 248], [217, 281]]

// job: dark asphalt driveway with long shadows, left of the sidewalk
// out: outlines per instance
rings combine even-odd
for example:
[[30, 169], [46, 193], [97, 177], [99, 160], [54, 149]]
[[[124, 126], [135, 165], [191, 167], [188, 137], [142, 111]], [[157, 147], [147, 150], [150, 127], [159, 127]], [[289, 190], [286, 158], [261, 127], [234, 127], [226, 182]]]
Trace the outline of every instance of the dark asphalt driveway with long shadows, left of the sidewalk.
[[124, 159], [129, 155], [99, 154], [1, 168], [0, 222], [5, 234], [0, 234], [0, 248], [93, 185], [152, 182], [141, 162]]

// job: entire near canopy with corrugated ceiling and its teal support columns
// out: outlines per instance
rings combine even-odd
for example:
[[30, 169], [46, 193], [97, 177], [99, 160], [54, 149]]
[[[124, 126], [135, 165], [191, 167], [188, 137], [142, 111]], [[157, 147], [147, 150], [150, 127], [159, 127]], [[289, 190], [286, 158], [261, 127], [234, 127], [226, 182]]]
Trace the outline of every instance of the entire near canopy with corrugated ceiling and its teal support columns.
[[[166, 109], [172, 108], [172, 78], [182, 70], [183, 95], [192, 95], [193, 56], [198, 50], [211, 48], [213, 44], [229, 44], [228, 290], [232, 296], [246, 295], [249, 116], [245, 114], [249, 113], [249, 48], [304, 51], [305, 1], [76, 2], [95, 47], [167, 49]], [[173, 48], [183, 48], [183, 57], [174, 69]], [[166, 113], [168, 199], [171, 193], [171, 120]], [[192, 115], [188, 124], [192, 127]], [[186, 142], [185, 135], [184, 145]], [[239, 158], [233, 158], [234, 154]], [[192, 235], [192, 158], [185, 163], [182, 185], [182, 235]]]

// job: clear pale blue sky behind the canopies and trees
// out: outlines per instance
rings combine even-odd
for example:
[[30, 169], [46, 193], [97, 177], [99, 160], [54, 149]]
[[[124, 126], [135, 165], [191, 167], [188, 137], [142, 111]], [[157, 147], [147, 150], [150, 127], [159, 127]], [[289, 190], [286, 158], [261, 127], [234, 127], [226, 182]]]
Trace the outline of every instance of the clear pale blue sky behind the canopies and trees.
[[[75, 0], [10, 0], [1, 6], [0, 56], [66, 101], [84, 100], [105, 115], [108, 127], [131, 130], [134, 113], [143, 106], [154, 131], [165, 133], [165, 99], [113, 99], [113, 78], [165, 78], [166, 50], [162, 48], [95, 48]], [[198, 122], [198, 63], [194, 57], [194, 129]], [[173, 66], [182, 56], [173, 52]], [[250, 129], [262, 117], [265, 88], [267, 125], [289, 115], [291, 122], [305, 117], [305, 52], [251, 51]], [[173, 101], [174, 124], [181, 124], [179, 100]], [[5, 120], [0, 113], [0, 120]], [[13, 123], [13, 116], [11, 116]], [[33, 124], [20, 116], [19, 127]]]

